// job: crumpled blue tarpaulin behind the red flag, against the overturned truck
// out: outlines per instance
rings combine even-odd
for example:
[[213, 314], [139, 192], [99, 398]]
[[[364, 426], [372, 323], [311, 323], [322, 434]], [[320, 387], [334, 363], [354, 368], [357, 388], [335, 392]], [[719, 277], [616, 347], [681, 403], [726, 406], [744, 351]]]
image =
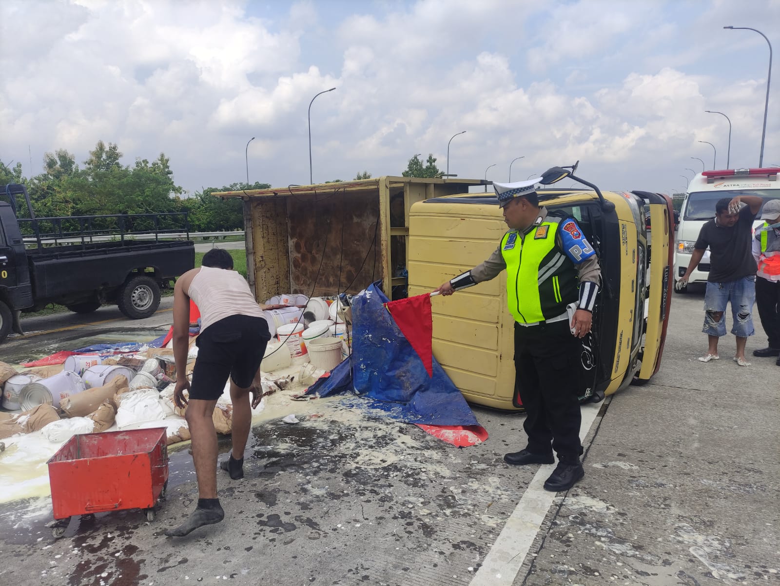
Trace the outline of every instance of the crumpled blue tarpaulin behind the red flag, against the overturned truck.
[[352, 299], [353, 348], [349, 359], [307, 393], [353, 392], [355, 404], [385, 411], [397, 421], [430, 425], [479, 425], [436, 359], [428, 376], [417, 352], [385, 308], [388, 298], [371, 285]]

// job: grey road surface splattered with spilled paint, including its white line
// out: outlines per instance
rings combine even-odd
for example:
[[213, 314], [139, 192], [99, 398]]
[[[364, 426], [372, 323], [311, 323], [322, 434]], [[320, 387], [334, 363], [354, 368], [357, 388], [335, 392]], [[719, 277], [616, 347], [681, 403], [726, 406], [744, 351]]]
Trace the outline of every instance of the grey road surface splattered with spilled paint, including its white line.
[[[475, 407], [490, 438], [456, 449], [339, 400], [282, 401], [250, 436], [246, 478], [220, 474], [222, 524], [163, 535], [197, 500], [178, 450], [151, 523], [100, 513], [55, 541], [51, 510], [0, 505], [0, 584], [778, 584], [780, 368], [740, 368], [732, 336], [721, 360], [698, 362], [702, 303], [674, 296], [650, 384], [583, 406], [586, 476], [566, 494], [541, 489], [552, 466], [503, 463], [525, 445], [522, 415]], [[26, 321], [34, 336], [0, 353], [151, 339], [171, 319], [169, 302], [143, 322], [117, 314]], [[749, 350], [766, 343], [756, 326]], [[288, 413], [301, 423], [282, 424]]]

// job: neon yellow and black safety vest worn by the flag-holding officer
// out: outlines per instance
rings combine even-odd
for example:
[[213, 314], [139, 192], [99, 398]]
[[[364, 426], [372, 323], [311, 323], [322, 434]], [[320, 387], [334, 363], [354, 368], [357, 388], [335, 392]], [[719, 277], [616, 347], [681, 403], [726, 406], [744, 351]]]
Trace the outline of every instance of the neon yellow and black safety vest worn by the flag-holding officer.
[[559, 218], [548, 217], [525, 235], [512, 230], [501, 239], [506, 300], [515, 321], [530, 324], [555, 318], [577, 300], [576, 268], [555, 245], [558, 222]]

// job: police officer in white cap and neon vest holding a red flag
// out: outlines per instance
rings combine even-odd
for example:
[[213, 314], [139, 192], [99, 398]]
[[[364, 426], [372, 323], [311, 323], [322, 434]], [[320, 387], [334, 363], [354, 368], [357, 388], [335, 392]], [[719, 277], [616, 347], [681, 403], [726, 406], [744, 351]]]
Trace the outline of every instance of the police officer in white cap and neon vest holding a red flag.
[[554, 463], [544, 488], [564, 491], [583, 478], [580, 463], [580, 338], [590, 332], [601, 269], [574, 218], [539, 207], [535, 184], [494, 183], [509, 232], [487, 261], [445, 282], [442, 295], [494, 279], [506, 269], [515, 318], [515, 392], [526, 410], [525, 449], [507, 463]]

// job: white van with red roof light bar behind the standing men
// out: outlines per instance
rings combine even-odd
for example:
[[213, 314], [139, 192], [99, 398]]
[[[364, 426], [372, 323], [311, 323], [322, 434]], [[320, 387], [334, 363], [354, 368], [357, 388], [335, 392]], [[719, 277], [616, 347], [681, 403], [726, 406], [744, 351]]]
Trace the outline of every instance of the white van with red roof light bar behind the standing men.
[[[688, 193], [683, 208], [680, 210], [680, 220], [677, 226], [675, 240], [675, 282], [685, 275], [693, 254], [693, 244], [699, 237], [704, 222], [715, 217], [715, 204], [722, 197], [738, 195], [757, 195], [764, 201], [780, 199], [780, 184], [777, 183], [780, 168], [769, 169], [726, 169], [724, 171], [705, 171], [690, 180]], [[756, 217], [760, 217], [761, 212]], [[753, 227], [761, 226], [763, 222], [756, 220]], [[697, 268], [693, 269], [688, 279], [693, 282], [707, 282], [710, 272], [710, 251], [704, 252]], [[676, 289], [675, 289], [676, 290]], [[683, 289], [680, 293], [685, 292]]]

